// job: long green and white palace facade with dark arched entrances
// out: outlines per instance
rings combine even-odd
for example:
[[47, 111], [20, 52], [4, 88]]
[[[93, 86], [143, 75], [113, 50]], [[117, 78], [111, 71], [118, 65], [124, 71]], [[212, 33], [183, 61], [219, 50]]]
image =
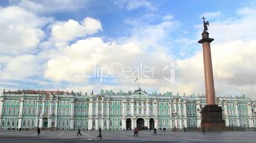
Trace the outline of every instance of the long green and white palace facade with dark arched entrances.
[[[255, 101], [217, 97], [226, 126], [255, 127]], [[204, 96], [101, 90], [100, 94], [23, 90], [0, 95], [0, 128], [85, 130], [200, 127]]]

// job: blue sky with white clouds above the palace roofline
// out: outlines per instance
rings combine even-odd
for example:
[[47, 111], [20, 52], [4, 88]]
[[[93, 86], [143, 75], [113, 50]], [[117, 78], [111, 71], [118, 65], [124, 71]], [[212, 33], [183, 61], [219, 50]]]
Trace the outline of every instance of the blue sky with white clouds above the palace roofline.
[[[2, 0], [0, 89], [256, 96], [256, 1]], [[136, 80], [138, 78], [138, 80]]]

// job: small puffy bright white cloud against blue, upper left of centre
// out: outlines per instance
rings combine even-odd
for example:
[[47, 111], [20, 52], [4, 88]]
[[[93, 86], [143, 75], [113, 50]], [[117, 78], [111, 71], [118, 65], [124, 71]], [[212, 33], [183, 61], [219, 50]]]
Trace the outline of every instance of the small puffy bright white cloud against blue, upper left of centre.
[[56, 23], [52, 27], [53, 40], [68, 42], [78, 37], [92, 35], [102, 30], [101, 22], [94, 18], [87, 17], [82, 22], [68, 20], [68, 22]]

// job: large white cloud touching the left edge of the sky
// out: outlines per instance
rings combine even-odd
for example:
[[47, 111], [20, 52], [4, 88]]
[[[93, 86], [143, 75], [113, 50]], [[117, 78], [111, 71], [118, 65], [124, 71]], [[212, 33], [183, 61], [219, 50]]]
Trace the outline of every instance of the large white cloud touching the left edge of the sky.
[[41, 27], [50, 21], [18, 6], [0, 9], [0, 19], [2, 55], [31, 53], [45, 36]]

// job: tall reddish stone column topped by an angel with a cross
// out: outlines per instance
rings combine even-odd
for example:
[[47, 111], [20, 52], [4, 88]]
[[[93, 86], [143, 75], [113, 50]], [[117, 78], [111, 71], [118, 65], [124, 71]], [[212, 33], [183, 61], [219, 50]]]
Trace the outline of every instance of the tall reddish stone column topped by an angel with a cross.
[[[205, 20], [206, 18], [202, 18]], [[202, 39], [198, 42], [203, 45], [204, 57], [204, 80], [206, 90], [206, 106], [202, 109], [201, 127], [205, 130], [221, 130], [225, 127], [225, 121], [222, 119], [222, 108], [215, 103], [215, 90], [213, 82], [213, 66], [211, 63], [211, 46], [210, 43], [214, 40], [209, 38], [207, 32], [209, 22], [204, 21], [204, 31]]]

